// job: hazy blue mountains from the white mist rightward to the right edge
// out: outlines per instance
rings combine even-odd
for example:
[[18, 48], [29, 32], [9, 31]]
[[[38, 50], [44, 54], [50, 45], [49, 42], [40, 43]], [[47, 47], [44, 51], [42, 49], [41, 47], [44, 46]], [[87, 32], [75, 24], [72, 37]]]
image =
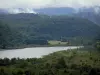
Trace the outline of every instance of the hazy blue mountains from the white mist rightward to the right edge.
[[72, 7], [61, 7], [61, 8], [42, 8], [36, 9], [36, 12], [46, 15], [69, 15], [81, 18], [88, 19], [97, 25], [100, 26], [100, 6], [93, 7], [81, 7], [81, 8], [72, 8]]

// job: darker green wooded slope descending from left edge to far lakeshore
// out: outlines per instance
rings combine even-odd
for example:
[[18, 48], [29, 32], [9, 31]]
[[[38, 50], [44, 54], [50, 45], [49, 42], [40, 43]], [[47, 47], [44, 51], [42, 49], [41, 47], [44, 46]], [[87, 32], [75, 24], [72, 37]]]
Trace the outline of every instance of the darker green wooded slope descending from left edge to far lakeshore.
[[42, 36], [38, 37], [30, 36], [29, 38], [28, 37], [29, 36], [24, 35], [18, 30], [13, 30], [11, 27], [0, 21], [0, 48], [6, 49], [6, 48], [16, 48], [17, 46], [30, 45], [30, 44], [36, 44], [36, 45], [48, 44], [47, 39]]

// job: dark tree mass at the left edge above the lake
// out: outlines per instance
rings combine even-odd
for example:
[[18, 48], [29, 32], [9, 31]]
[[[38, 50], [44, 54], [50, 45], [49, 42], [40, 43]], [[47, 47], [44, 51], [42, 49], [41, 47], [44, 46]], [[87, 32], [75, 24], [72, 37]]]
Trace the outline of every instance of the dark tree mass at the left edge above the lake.
[[0, 47], [5, 49], [6, 46], [10, 43], [10, 28], [7, 24], [0, 22]]

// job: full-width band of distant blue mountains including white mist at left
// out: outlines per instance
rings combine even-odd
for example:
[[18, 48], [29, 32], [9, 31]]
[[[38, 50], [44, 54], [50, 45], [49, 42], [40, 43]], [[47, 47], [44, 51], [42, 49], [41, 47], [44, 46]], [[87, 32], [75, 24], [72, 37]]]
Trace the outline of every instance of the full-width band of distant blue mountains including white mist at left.
[[100, 26], [100, 6], [93, 7], [81, 7], [81, 8], [72, 8], [72, 7], [55, 7], [55, 8], [9, 8], [9, 9], [0, 9], [0, 14], [19, 14], [19, 13], [31, 13], [31, 14], [44, 14], [44, 15], [68, 15], [76, 16], [88, 19], [95, 24]]

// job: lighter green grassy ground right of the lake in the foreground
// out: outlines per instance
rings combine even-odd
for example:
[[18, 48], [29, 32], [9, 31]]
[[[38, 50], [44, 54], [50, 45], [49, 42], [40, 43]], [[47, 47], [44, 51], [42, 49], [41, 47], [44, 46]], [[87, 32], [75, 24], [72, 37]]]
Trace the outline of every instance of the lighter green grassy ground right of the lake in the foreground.
[[66, 64], [76, 64], [76, 65], [89, 65], [91, 67], [100, 68], [100, 52], [97, 50], [68, 50], [68, 51], [59, 51], [52, 53], [50, 55], [44, 56], [50, 60], [59, 59], [64, 57]]

